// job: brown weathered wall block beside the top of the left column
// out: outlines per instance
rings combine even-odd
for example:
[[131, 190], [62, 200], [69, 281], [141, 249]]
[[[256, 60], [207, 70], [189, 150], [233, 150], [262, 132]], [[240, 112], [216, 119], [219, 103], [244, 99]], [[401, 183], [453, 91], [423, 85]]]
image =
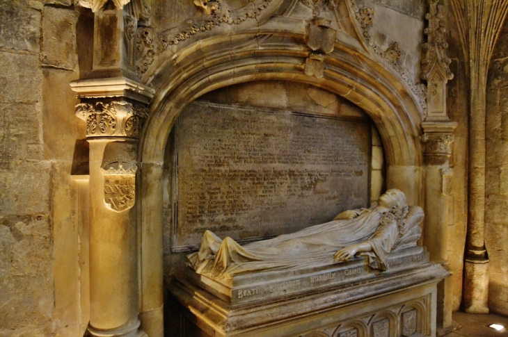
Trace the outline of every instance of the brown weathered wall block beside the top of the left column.
[[41, 46], [43, 66], [77, 70], [76, 23], [77, 12], [74, 10], [45, 7]]

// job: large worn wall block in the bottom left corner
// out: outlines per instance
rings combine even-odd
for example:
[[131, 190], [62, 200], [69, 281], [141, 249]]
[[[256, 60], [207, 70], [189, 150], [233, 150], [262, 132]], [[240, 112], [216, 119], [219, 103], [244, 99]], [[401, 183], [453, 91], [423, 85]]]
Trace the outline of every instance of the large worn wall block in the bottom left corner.
[[51, 250], [48, 215], [0, 217], [1, 336], [50, 336]]

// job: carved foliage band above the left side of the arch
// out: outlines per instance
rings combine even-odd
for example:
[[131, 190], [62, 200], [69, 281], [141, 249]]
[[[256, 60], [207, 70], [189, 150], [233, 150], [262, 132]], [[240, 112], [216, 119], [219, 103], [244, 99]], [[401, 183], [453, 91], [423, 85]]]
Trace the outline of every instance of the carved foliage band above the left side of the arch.
[[249, 0], [241, 8], [233, 8], [227, 0], [185, 0], [193, 1], [203, 14], [189, 19], [164, 33], [157, 33], [153, 28], [138, 29], [136, 72], [142, 76], [154, 63], [154, 58], [169, 46], [179, 44], [193, 36], [212, 31], [221, 24], [237, 25], [247, 19], [257, 19], [273, 0]]

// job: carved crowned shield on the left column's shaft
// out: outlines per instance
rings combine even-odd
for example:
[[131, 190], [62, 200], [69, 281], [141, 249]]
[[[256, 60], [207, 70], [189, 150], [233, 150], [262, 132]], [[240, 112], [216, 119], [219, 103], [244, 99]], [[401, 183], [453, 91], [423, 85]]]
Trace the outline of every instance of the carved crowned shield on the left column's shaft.
[[104, 203], [113, 211], [121, 212], [134, 206], [136, 202], [135, 163], [111, 161], [102, 166], [104, 176]]

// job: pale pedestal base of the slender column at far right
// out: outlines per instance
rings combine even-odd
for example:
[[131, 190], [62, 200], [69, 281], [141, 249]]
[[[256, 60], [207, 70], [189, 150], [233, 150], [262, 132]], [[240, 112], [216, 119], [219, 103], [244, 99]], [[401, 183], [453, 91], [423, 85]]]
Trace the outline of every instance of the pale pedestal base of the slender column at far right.
[[489, 313], [489, 260], [464, 263], [463, 304], [466, 313]]

